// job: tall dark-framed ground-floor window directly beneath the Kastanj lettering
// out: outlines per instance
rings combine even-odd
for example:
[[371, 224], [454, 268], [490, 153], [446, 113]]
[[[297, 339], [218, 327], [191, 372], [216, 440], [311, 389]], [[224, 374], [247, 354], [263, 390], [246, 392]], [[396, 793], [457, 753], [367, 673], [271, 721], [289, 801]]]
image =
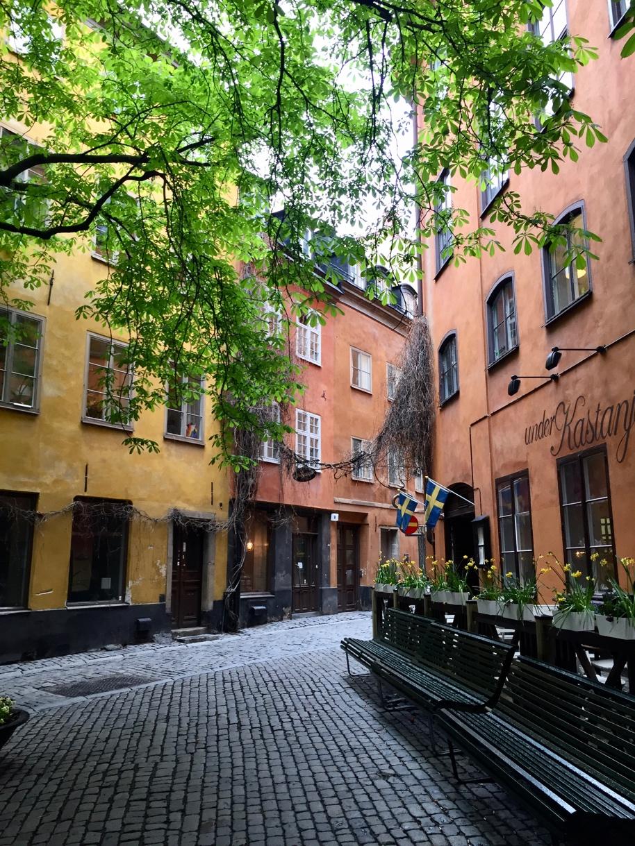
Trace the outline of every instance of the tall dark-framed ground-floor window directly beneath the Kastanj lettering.
[[558, 474], [566, 563], [594, 576], [596, 589], [604, 590], [608, 578], [616, 578], [606, 448], [560, 459]]

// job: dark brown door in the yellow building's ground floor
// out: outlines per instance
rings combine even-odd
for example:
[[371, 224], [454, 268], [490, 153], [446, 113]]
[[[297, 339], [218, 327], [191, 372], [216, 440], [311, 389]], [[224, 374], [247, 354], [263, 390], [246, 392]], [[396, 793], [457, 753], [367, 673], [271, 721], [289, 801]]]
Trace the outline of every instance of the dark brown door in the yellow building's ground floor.
[[204, 538], [196, 526], [174, 526], [172, 625], [176, 629], [201, 623]]

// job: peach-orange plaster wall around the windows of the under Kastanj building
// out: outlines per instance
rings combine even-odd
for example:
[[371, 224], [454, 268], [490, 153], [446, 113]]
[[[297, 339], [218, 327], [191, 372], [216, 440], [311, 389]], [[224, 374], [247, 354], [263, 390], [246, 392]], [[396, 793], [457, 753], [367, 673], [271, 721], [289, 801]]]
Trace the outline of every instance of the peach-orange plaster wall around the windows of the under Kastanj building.
[[[635, 57], [621, 59], [623, 42], [612, 41], [606, 3], [568, 0], [572, 34], [588, 39], [599, 48], [599, 59], [579, 69], [575, 77], [573, 107], [588, 113], [608, 136], [607, 144], [588, 148], [579, 141], [579, 161], [560, 164], [560, 173], [523, 171], [511, 173], [510, 190], [521, 195], [522, 210], [539, 208], [560, 215], [568, 206], [583, 201], [586, 226], [602, 238], [593, 250], [599, 261], [591, 264], [593, 293], [566, 315], [545, 326], [542, 257], [514, 255], [511, 231], [493, 225], [505, 251], [493, 257], [468, 259], [467, 265], [448, 266], [434, 279], [434, 246], [424, 251], [423, 308], [433, 332], [435, 350], [444, 334], [456, 329], [458, 338], [459, 395], [439, 409], [434, 447], [436, 479], [446, 485], [467, 482], [479, 489], [477, 514], [489, 514], [494, 555], [499, 554], [494, 502], [494, 480], [516, 470], [529, 470], [533, 549], [535, 554], [562, 555], [560, 504], [556, 459], [549, 451], [555, 437], [527, 446], [525, 426], [555, 412], [560, 401], [575, 402], [584, 395], [593, 409], [632, 398], [635, 388], [635, 339], [616, 344], [604, 356], [565, 352], [558, 370], [559, 382], [524, 380], [515, 398], [507, 394], [512, 374], [548, 376], [544, 363], [551, 347], [595, 347], [608, 344], [635, 328], [635, 265], [629, 264], [633, 246], [627, 211], [627, 188], [623, 157], [635, 139]], [[458, 176], [453, 205], [470, 211], [478, 221], [479, 191]], [[485, 327], [485, 299], [497, 279], [513, 272], [516, 290], [516, 321], [519, 349], [488, 371]], [[578, 366], [569, 370], [572, 365]], [[470, 454], [472, 431], [472, 458]], [[623, 462], [616, 459], [615, 438], [606, 442], [616, 552], [635, 551], [635, 523], [632, 520], [633, 453], [631, 444]], [[618, 439], [619, 440], [619, 439]], [[556, 442], [557, 446], [557, 442]], [[580, 448], [582, 450], [584, 446]], [[563, 448], [562, 455], [580, 451]], [[444, 553], [444, 532], [436, 532], [436, 552]]]

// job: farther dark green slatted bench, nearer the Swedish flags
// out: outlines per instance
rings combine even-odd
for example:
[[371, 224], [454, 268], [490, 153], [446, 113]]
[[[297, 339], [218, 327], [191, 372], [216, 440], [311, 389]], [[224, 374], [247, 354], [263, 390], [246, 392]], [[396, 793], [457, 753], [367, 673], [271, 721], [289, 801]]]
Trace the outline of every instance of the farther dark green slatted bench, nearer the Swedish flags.
[[351, 656], [378, 679], [384, 707], [394, 706], [384, 696], [382, 679], [428, 711], [434, 750], [435, 712], [456, 702], [483, 710], [491, 706], [500, 695], [515, 647], [395, 608], [386, 611], [377, 639], [345, 638], [341, 643], [349, 674], [354, 674]]

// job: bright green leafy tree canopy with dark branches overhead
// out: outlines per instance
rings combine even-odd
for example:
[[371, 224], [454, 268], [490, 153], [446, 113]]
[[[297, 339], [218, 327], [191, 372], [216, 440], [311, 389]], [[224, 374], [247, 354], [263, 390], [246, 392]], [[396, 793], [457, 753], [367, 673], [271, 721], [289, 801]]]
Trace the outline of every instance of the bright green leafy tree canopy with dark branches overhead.
[[[0, 114], [26, 127], [25, 138], [0, 137], [0, 296], [28, 307], [9, 286], [41, 285], [58, 253], [89, 250], [97, 236], [110, 263], [78, 316], [130, 335], [135, 392], [122, 415], [163, 404], [174, 371], [204, 376], [218, 458], [248, 464], [235, 429], [280, 435], [254, 409], [300, 389], [267, 312], [289, 301], [290, 320], [323, 319], [309, 311], [316, 301], [336, 310], [334, 256], [368, 279], [381, 264], [413, 281], [419, 236], [447, 214], [442, 168], [481, 184], [493, 161], [557, 172], [579, 143], [603, 140], [560, 79], [594, 49], [577, 34], [547, 45], [533, 35], [544, 5], [0, 5]], [[414, 107], [426, 129], [399, 150]], [[41, 146], [25, 140], [35, 125]], [[496, 249], [491, 229], [451, 214], [456, 261]], [[524, 213], [515, 195], [494, 214], [518, 249], [557, 235], [553, 218]], [[317, 232], [310, 250], [307, 230]]]

